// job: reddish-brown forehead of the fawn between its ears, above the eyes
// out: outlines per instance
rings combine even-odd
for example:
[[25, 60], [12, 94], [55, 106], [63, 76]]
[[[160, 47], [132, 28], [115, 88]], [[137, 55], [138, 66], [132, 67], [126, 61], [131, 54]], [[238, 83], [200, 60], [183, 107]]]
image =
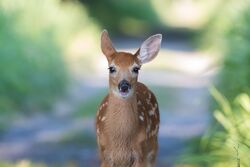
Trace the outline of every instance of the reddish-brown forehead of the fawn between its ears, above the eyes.
[[118, 52], [114, 55], [112, 64], [121, 69], [126, 69], [136, 64], [139, 65], [139, 60], [131, 53]]

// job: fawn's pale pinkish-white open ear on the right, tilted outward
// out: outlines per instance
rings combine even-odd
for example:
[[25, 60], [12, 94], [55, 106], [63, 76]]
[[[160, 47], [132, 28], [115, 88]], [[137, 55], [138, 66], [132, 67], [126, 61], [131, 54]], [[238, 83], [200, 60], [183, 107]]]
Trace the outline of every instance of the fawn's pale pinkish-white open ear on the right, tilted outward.
[[140, 49], [136, 52], [137, 58], [141, 64], [147, 63], [157, 56], [161, 48], [161, 40], [162, 35], [156, 34], [142, 43]]

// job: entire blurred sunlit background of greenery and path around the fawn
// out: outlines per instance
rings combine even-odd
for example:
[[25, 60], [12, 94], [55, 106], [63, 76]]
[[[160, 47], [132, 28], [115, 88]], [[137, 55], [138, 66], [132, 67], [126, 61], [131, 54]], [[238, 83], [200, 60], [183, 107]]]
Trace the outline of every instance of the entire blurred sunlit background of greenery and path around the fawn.
[[139, 80], [158, 98], [158, 167], [249, 167], [249, 0], [0, 0], [0, 167], [97, 167], [108, 91], [100, 33], [162, 49]]

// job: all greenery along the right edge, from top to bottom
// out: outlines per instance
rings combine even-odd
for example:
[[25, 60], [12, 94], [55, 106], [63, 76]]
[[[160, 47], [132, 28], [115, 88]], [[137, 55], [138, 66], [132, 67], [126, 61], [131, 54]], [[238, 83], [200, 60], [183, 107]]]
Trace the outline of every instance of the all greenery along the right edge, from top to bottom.
[[[248, 0], [218, 1], [218, 10], [201, 31], [201, 48], [219, 55], [221, 70], [212, 90], [214, 120], [201, 138], [188, 144], [183, 164], [247, 167], [250, 164], [250, 5]], [[202, 42], [201, 42], [202, 41]], [[240, 159], [240, 164], [239, 164]]]

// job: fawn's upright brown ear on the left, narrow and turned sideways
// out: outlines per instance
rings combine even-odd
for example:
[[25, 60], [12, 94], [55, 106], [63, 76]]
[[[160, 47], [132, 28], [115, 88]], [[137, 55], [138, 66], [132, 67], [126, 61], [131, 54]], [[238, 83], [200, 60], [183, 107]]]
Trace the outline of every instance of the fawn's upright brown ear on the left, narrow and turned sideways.
[[101, 34], [101, 49], [102, 53], [107, 57], [108, 61], [112, 60], [112, 55], [116, 52], [112, 41], [109, 38], [108, 31], [103, 30]]

